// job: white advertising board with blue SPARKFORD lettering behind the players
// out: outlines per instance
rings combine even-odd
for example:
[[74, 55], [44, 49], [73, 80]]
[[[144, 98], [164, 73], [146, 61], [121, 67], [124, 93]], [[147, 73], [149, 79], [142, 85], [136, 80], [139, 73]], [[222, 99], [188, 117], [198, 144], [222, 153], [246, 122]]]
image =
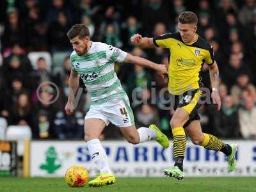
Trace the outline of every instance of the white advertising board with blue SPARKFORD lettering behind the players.
[[[236, 142], [237, 168], [227, 173], [227, 162], [221, 152], [205, 150], [188, 142], [184, 161], [186, 177], [256, 176], [256, 141]], [[163, 149], [156, 142], [131, 145], [126, 141], [102, 141], [108, 161], [117, 177], [163, 177], [163, 169], [173, 166], [172, 146]], [[95, 176], [97, 170], [83, 141], [31, 141], [31, 177], [64, 177], [66, 170], [81, 164]]]

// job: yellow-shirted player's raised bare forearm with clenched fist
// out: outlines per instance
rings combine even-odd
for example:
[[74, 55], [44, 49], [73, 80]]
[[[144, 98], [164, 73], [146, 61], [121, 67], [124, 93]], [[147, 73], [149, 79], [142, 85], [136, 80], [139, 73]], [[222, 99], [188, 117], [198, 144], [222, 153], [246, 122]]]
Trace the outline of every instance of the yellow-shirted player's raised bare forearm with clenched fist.
[[141, 48], [154, 48], [156, 45], [153, 42], [153, 38], [142, 37], [140, 34], [135, 34], [131, 36], [131, 42], [133, 45], [139, 46]]

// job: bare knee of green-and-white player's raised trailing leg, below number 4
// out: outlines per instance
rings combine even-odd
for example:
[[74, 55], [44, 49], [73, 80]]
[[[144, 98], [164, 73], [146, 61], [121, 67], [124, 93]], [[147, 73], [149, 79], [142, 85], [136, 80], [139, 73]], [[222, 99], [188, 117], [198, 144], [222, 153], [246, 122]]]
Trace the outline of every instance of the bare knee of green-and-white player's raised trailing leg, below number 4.
[[133, 143], [133, 144], [140, 143], [140, 136], [135, 125], [120, 127], [120, 131], [122, 132], [124, 138], [129, 143]]

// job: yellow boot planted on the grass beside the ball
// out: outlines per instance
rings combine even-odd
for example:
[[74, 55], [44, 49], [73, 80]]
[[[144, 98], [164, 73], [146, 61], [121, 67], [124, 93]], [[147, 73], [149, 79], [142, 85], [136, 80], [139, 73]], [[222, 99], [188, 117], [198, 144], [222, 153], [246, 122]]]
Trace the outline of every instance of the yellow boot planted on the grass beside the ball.
[[99, 174], [98, 177], [88, 182], [90, 187], [101, 187], [107, 185], [113, 185], [116, 182], [116, 178], [113, 174]]

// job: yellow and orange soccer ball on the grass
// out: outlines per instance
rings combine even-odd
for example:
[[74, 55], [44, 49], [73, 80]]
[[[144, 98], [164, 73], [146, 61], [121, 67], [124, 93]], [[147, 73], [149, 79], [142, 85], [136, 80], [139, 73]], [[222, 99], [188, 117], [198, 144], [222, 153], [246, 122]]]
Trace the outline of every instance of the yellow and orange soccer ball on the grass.
[[68, 186], [72, 188], [81, 188], [85, 186], [88, 179], [89, 175], [86, 168], [80, 165], [70, 167], [65, 174], [65, 180]]

